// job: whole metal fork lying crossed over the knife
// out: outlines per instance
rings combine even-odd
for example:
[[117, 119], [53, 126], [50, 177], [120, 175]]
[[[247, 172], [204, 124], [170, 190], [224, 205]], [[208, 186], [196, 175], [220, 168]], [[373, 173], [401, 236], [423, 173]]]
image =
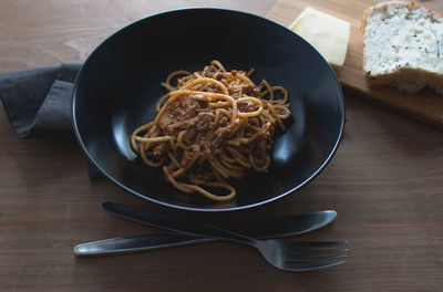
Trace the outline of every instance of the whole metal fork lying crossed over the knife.
[[124, 206], [103, 202], [102, 207], [123, 218], [179, 233], [235, 241], [256, 248], [272, 267], [285, 271], [309, 271], [344, 263], [347, 241], [291, 241], [288, 239], [259, 240], [226, 229], [142, 209], [127, 211]]

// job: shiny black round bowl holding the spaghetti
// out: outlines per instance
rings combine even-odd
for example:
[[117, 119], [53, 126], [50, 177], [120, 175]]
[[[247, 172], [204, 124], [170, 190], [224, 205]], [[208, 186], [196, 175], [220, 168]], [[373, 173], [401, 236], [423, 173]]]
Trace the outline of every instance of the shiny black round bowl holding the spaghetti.
[[[202, 70], [212, 60], [227, 70], [256, 67], [255, 79], [289, 91], [293, 123], [276, 138], [267, 174], [233, 181], [237, 196], [214, 202], [183, 194], [132, 150], [132, 132], [152, 121], [166, 76]], [[140, 198], [198, 211], [238, 210], [279, 199], [310, 181], [336, 152], [344, 124], [340, 84], [303, 39], [267, 19], [222, 9], [186, 9], [140, 20], [106, 39], [75, 82], [73, 124], [87, 158]]]

